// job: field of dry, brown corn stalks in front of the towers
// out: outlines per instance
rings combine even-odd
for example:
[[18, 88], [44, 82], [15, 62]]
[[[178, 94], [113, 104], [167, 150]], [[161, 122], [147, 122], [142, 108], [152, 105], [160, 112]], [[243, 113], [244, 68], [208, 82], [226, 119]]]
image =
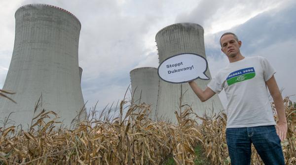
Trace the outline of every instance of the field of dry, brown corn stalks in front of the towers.
[[[289, 98], [284, 101], [288, 138], [282, 146], [286, 165], [296, 165], [296, 108]], [[57, 127], [57, 114], [45, 110], [34, 117], [27, 131], [4, 125], [0, 128], [0, 164], [161, 165], [173, 157], [177, 165], [194, 165], [193, 147], [197, 144], [202, 146], [209, 164], [230, 164], [224, 113], [197, 116], [189, 106], [181, 104], [180, 98], [179, 110], [175, 111], [178, 124], [174, 125], [150, 120], [146, 104], [130, 104], [124, 112], [127, 103], [120, 102], [118, 117], [111, 119], [101, 113], [98, 119], [80, 122], [73, 130]], [[192, 115], [197, 118], [192, 119]], [[261, 165], [253, 150], [252, 164]]]

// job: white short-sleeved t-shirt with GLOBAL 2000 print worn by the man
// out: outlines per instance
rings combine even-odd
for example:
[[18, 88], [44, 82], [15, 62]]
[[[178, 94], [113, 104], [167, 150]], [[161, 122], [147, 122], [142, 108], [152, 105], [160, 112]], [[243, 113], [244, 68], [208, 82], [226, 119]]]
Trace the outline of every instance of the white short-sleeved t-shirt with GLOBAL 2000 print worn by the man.
[[228, 100], [226, 128], [275, 125], [265, 82], [275, 73], [261, 56], [231, 62], [218, 72], [208, 87]]

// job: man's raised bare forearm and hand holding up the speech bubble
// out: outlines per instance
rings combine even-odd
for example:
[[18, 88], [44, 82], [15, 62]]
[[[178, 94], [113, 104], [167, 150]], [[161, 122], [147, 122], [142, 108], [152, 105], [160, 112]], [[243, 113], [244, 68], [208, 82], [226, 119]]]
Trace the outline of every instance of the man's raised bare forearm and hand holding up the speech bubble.
[[207, 101], [209, 98], [211, 98], [212, 96], [214, 96], [216, 94], [209, 87], [207, 87], [206, 90], [203, 91], [200, 87], [197, 86], [197, 84], [194, 81], [189, 82], [189, 85], [191, 86], [192, 90], [194, 91], [194, 93], [197, 95], [197, 97], [199, 98], [199, 100], [201, 102]]

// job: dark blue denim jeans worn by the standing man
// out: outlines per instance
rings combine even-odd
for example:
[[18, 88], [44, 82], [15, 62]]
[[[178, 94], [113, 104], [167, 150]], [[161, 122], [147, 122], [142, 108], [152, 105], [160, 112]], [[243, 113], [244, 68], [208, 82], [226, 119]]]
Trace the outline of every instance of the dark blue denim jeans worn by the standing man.
[[251, 143], [265, 165], [285, 165], [281, 140], [274, 125], [227, 128], [226, 141], [231, 165], [250, 165]]

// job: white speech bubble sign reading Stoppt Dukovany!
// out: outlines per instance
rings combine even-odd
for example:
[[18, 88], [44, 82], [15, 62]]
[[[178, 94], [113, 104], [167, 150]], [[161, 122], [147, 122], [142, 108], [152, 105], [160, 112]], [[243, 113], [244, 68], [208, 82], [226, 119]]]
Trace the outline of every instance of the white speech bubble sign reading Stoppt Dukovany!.
[[205, 74], [208, 61], [197, 54], [179, 54], [165, 59], [158, 67], [160, 79], [168, 83], [186, 83], [195, 79], [209, 80]]

